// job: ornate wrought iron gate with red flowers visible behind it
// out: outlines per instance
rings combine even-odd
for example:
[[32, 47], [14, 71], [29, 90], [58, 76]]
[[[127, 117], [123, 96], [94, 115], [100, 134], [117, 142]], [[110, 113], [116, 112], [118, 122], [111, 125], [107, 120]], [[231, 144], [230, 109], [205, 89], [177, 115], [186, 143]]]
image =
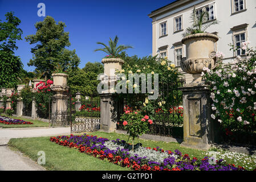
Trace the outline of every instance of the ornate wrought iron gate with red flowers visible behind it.
[[100, 129], [100, 97], [98, 94], [76, 93], [70, 98], [71, 133]]

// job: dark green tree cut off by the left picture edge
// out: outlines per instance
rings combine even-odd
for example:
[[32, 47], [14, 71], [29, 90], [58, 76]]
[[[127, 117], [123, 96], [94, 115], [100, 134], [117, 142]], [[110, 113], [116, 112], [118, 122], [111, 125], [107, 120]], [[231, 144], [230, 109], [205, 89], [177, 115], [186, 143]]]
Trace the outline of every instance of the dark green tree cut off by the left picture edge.
[[14, 51], [17, 40], [22, 40], [21, 20], [13, 12], [6, 13], [6, 22], [0, 20], [0, 86], [14, 87], [18, 83], [18, 73], [23, 64]]

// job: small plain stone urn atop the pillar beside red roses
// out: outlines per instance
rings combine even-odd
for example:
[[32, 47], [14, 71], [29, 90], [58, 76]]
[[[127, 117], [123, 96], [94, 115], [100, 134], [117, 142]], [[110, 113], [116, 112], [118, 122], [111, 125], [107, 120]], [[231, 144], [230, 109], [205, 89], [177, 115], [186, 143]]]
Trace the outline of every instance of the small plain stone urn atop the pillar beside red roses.
[[68, 90], [66, 73], [53, 73], [52, 74], [54, 83], [51, 85], [51, 89], [54, 91], [64, 92]]

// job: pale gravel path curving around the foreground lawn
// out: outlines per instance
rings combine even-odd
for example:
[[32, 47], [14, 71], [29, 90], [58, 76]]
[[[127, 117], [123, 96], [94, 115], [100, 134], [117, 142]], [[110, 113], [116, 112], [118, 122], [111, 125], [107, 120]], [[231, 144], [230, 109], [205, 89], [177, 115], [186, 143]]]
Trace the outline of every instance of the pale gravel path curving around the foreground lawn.
[[11, 138], [48, 137], [69, 135], [70, 127], [0, 129], [0, 171], [42, 171], [42, 166], [19, 151], [10, 150]]

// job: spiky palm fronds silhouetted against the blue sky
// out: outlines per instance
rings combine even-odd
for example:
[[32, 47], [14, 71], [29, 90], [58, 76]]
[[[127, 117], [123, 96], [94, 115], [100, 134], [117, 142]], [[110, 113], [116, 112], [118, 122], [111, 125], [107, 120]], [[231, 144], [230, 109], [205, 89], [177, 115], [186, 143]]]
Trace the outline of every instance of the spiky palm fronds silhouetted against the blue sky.
[[109, 38], [109, 41], [108, 41], [109, 46], [107, 46], [102, 42], [97, 42], [97, 44], [104, 46], [104, 48], [95, 49], [95, 51], [103, 51], [107, 53], [109, 56], [117, 57], [120, 52], [128, 48], [133, 48], [132, 46], [124, 46], [124, 45], [117, 46], [118, 40], [119, 38], [117, 36], [115, 36], [114, 40]]

